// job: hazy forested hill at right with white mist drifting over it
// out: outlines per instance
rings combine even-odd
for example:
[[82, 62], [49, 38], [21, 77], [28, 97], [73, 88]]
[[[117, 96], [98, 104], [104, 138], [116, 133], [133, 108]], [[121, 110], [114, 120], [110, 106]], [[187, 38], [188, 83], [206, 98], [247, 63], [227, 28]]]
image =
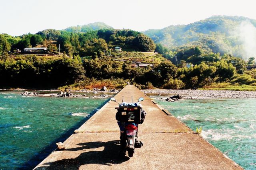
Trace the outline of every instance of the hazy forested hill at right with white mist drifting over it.
[[[235, 57], [252, 57], [256, 51], [256, 20], [238, 16], [212, 16], [188, 25], [170, 25], [163, 29], [148, 29], [143, 33], [169, 48], [196, 45], [206, 52], [230, 53]], [[248, 35], [249, 34], [249, 35]], [[250, 42], [250, 41], [254, 42]], [[245, 47], [246, 46], [246, 47]], [[249, 47], [248, 47], [249, 46]]]

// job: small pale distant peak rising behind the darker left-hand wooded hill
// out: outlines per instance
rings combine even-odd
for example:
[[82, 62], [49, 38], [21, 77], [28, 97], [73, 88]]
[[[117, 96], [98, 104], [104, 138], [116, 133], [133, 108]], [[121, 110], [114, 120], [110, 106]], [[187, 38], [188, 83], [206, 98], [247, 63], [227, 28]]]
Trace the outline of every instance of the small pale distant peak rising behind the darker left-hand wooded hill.
[[69, 32], [88, 32], [88, 31], [94, 31], [94, 30], [100, 30], [100, 29], [114, 29], [114, 28], [103, 22], [94, 22], [94, 23], [89, 23], [87, 25], [77, 25], [73, 27], [68, 27], [64, 30]]

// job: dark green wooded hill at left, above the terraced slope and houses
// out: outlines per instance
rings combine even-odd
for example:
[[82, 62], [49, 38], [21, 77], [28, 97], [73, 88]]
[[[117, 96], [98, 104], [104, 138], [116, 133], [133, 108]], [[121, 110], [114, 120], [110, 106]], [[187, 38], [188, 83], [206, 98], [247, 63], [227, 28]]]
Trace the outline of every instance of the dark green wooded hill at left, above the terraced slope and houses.
[[111, 53], [116, 46], [124, 51], [142, 52], [151, 52], [156, 48], [152, 39], [138, 31], [112, 28], [91, 30], [96, 29], [93, 26], [87, 28], [88, 31], [85, 33], [46, 29], [34, 35], [28, 33], [13, 37], [0, 34], [0, 56], [7, 51], [38, 46], [47, 47], [50, 53], [58, 53], [58, 44], [60, 44], [60, 52], [65, 52], [69, 57], [73, 55], [103, 57], [106, 52]]

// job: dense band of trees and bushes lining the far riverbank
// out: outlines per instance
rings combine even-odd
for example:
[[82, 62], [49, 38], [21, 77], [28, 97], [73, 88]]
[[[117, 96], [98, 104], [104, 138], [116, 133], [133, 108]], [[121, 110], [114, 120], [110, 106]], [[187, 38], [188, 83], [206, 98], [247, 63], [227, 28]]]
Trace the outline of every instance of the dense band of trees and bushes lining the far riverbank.
[[88, 79], [122, 79], [143, 87], [186, 89], [213, 83], [256, 85], [256, 69], [246, 70], [246, 63], [231, 55], [215, 61], [202, 61], [193, 67], [162, 59], [153, 68], [132, 68], [130, 61], [81, 59], [71, 57], [1, 57], [1, 88], [58, 88]]

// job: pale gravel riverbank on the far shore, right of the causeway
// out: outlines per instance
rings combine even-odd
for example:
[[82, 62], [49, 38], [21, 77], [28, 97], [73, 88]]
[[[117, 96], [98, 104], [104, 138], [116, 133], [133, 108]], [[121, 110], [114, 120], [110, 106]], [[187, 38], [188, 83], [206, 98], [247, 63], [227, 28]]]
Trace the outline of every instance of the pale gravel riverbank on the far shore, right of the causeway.
[[256, 92], [231, 91], [231, 90], [167, 90], [167, 89], [146, 89], [141, 90], [146, 94], [156, 95], [182, 95], [182, 99], [198, 98], [256, 98]]

